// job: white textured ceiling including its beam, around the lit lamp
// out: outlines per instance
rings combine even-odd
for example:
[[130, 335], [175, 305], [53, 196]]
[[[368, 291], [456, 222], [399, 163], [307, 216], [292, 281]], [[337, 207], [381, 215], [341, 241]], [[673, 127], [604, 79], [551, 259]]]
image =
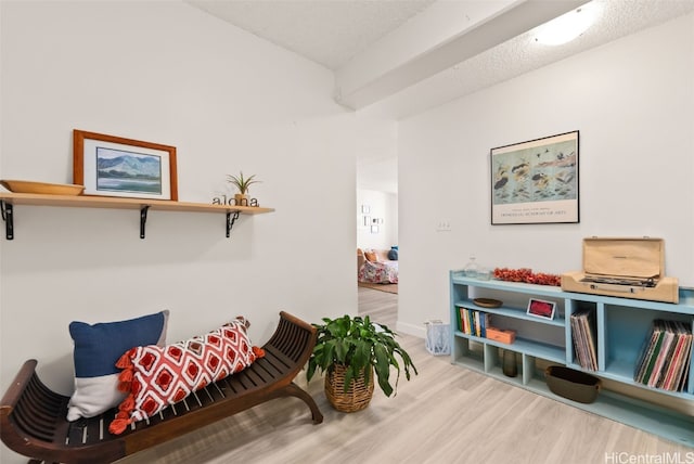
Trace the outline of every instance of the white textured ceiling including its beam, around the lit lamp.
[[[560, 47], [547, 47], [534, 40], [532, 27], [539, 17], [527, 13], [512, 16], [513, 10], [548, 9], [567, 4], [570, 10], [581, 1], [570, 0], [185, 0], [236, 27], [269, 40], [333, 70], [335, 94], [340, 103], [357, 109], [373, 109], [383, 117], [400, 119], [520, 74], [563, 60], [571, 54], [660, 24], [694, 11], [694, 0], [593, 0], [600, 11], [597, 21], [581, 37]], [[491, 5], [491, 7], [490, 7]], [[439, 16], [433, 16], [434, 10]], [[442, 12], [442, 15], [441, 15]], [[470, 13], [470, 14], [468, 14]], [[478, 16], [471, 23], [471, 16]], [[500, 16], [507, 14], [505, 23]], [[424, 20], [428, 16], [429, 22]], [[433, 22], [435, 17], [437, 22]], [[452, 18], [452, 20], [451, 20]], [[501, 17], [503, 20], [503, 17]], [[525, 21], [520, 34], [517, 23]], [[532, 23], [532, 22], [536, 23]], [[419, 29], [414, 26], [420, 24]], [[461, 25], [451, 27], [450, 24]], [[468, 23], [464, 25], [464, 23]], [[450, 24], [446, 24], [450, 23]], [[528, 27], [529, 26], [529, 27]], [[463, 55], [460, 50], [484, 39], [485, 31], [500, 36], [509, 29], [507, 40], [485, 50]], [[408, 33], [402, 33], [407, 30]], [[441, 33], [445, 30], [445, 33]], [[415, 31], [415, 34], [410, 34]], [[428, 35], [428, 36], [427, 36]], [[432, 39], [435, 37], [435, 39]], [[504, 37], [503, 35], [500, 37]], [[397, 38], [395, 40], [394, 38]], [[458, 41], [462, 47], [441, 57], [441, 49]], [[426, 42], [425, 48], [417, 43]], [[360, 59], [380, 49], [378, 59]], [[403, 54], [400, 62], [374, 70], [389, 56]], [[467, 47], [470, 49], [470, 47]], [[438, 53], [438, 56], [434, 56]], [[455, 60], [455, 53], [460, 53]], [[373, 53], [371, 53], [373, 55]], [[434, 60], [426, 62], [427, 57]], [[424, 63], [424, 64], [421, 64]], [[419, 67], [417, 67], [419, 66]], [[423, 69], [427, 67], [427, 69]], [[367, 89], [368, 101], [343, 98], [343, 77], [350, 73], [352, 94]], [[354, 78], [354, 76], [357, 76]], [[397, 86], [378, 88], [378, 80], [390, 79]], [[374, 83], [375, 82], [375, 83]], [[360, 87], [361, 86], [361, 87]], [[369, 88], [371, 86], [372, 88]], [[349, 87], [349, 86], [347, 86]], [[374, 90], [374, 88], [376, 90]], [[375, 96], [374, 96], [375, 95]]]

